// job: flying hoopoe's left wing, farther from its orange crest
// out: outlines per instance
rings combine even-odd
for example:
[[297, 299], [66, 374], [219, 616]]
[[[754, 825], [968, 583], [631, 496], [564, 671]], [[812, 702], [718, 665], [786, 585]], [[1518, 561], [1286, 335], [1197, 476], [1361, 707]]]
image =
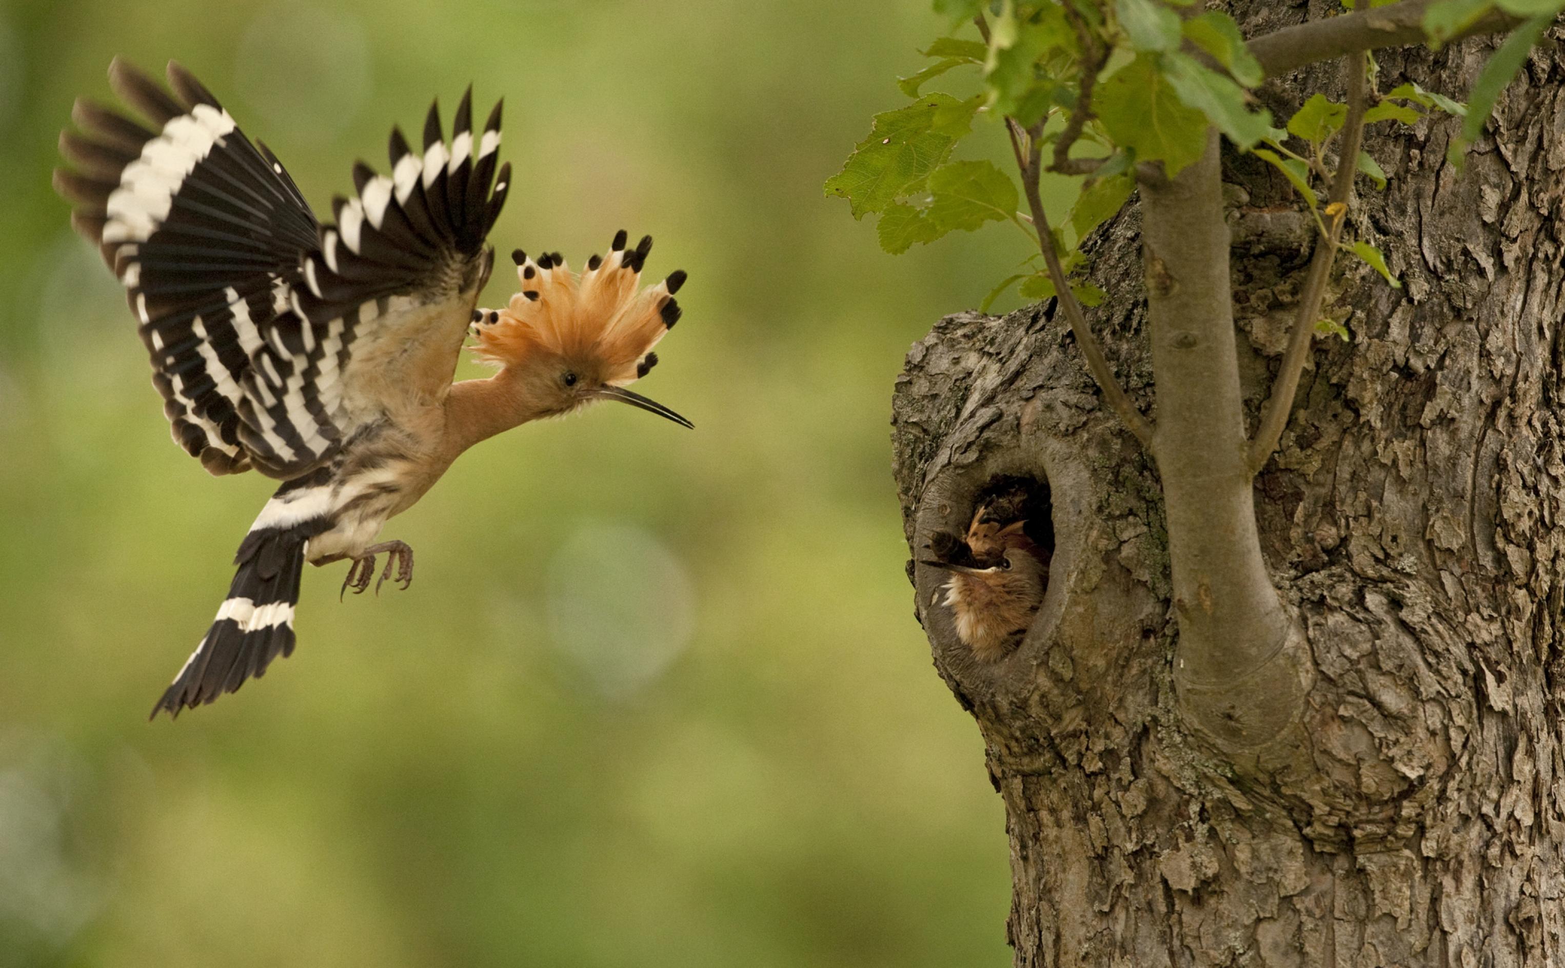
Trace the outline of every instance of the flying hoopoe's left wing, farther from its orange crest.
[[125, 285], [174, 439], [211, 473], [250, 467], [241, 382], [288, 309], [319, 226], [288, 172], [207, 88], [169, 64], [171, 97], [116, 58], [110, 81], [153, 122], [78, 100], [55, 185]]

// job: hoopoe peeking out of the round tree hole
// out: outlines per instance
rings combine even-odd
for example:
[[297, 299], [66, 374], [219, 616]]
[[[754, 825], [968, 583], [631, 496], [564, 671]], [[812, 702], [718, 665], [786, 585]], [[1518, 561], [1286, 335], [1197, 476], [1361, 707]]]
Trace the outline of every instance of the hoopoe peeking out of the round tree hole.
[[944, 605], [952, 609], [956, 638], [980, 661], [1005, 658], [1033, 623], [1049, 587], [1049, 551], [1024, 529], [1019, 495], [980, 504], [967, 534], [941, 533], [923, 564], [950, 572]]

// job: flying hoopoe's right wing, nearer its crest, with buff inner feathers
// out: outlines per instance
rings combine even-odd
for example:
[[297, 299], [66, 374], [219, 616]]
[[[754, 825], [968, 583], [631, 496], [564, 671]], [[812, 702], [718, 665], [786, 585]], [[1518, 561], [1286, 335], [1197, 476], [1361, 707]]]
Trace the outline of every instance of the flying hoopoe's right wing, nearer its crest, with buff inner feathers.
[[430, 107], [423, 154], [393, 130], [391, 175], [354, 168], [357, 196], [335, 199], [336, 221], [290, 291], [296, 323], [275, 327], [244, 384], [246, 423], [266, 431], [247, 440], [258, 464], [302, 473], [308, 464], [290, 465], [264, 445], [285, 437], [296, 453], [324, 454], [319, 442], [379, 418], [388, 387], [426, 399], [449, 387], [493, 262], [484, 240], [510, 182], [509, 164], [496, 172], [499, 121], [496, 103], [474, 141], [470, 89], [449, 146]]

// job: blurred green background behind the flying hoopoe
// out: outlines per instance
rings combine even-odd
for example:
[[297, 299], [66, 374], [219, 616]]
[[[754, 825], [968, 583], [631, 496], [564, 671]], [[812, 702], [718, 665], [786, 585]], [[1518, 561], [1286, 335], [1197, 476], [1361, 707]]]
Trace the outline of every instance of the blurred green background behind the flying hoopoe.
[[[820, 188], [941, 31], [926, 0], [0, 6], [0, 966], [1008, 963], [887, 420], [908, 345], [1025, 241], [894, 258]], [[410, 591], [311, 569], [293, 658], [149, 725], [272, 482], [169, 442], [50, 191], [116, 53], [183, 61], [322, 213], [430, 96], [504, 96], [491, 241], [653, 233], [690, 284], [637, 388], [698, 429], [598, 407], [479, 446], [385, 533]]]

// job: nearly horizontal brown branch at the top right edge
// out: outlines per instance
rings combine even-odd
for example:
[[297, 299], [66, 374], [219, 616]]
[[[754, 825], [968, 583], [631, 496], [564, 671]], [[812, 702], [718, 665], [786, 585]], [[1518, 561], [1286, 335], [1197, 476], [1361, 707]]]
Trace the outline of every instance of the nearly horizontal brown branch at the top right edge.
[[[1249, 50], [1261, 64], [1266, 77], [1279, 77], [1305, 64], [1327, 61], [1347, 53], [1374, 50], [1377, 47], [1402, 47], [1423, 44], [1424, 11], [1437, 0], [1402, 0], [1376, 9], [1355, 9], [1340, 17], [1308, 20], [1297, 27], [1263, 34], [1249, 42]], [[1495, 11], [1451, 38], [1460, 41], [1480, 33], [1510, 30], [1521, 23], [1518, 17]]]

